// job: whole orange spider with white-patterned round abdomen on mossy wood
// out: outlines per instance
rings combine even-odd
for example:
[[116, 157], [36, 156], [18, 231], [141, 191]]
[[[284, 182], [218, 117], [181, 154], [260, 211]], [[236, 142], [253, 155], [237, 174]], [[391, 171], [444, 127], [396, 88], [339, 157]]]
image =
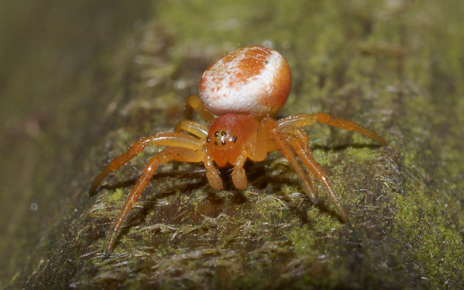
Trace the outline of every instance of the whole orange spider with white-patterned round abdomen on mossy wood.
[[315, 122], [326, 123], [358, 132], [381, 145], [386, 145], [386, 142], [352, 121], [325, 113], [275, 120], [273, 116], [285, 104], [291, 83], [292, 76], [287, 62], [270, 48], [239, 48], [214, 62], [201, 77], [199, 97], [187, 98], [188, 105], [202, 117], [207, 126], [186, 120], [179, 122], [174, 132], [160, 132], [141, 138], [127, 152], [111, 161], [95, 178], [90, 193], [96, 191], [111, 171], [137, 156], [145, 146], [168, 146], [148, 161], [127, 197], [112, 228], [107, 253], [111, 252], [125, 218], [158, 165], [170, 161], [203, 162], [210, 186], [218, 191], [222, 190], [222, 179], [216, 166], [232, 166], [232, 182], [237, 189], [244, 190], [247, 187], [245, 161], [262, 161], [269, 152], [279, 150], [295, 169], [309, 199], [314, 204], [317, 201], [312, 173], [322, 182], [342, 220], [348, 221], [348, 215], [332, 189], [327, 174], [313, 159], [308, 137], [301, 127]]

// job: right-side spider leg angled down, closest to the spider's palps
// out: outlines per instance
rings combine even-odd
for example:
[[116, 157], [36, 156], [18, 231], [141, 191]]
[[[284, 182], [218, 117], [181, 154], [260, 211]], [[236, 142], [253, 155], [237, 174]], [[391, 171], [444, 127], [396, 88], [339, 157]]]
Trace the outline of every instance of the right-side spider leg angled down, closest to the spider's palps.
[[288, 162], [290, 162], [292, 167], [297, 172], [298, 177], [300, 177], [300, 180], [303, 184], [304, 191], [308, 195], [311, 202], [316, 204], [316, 191], [314, 190], [313, 185], [311, 184], [306, 173], [304, 172], [304, 169], [298, 162], [298, 159], [295, 156], [295, 153], [293, 152], [291, 145], [286, 140], [286, 136], [288, 136], [288, 134], [279, 132], [279, 125], [277, 121], [273, 120], [272, 118], [264, 118], [261, 122], [263, 122], [264, 125], [267, 127], [270, 138], [275, 142], [275, 145], [280, 150], [280, 152], [282, 152], [282, 155], [288, 160]]

